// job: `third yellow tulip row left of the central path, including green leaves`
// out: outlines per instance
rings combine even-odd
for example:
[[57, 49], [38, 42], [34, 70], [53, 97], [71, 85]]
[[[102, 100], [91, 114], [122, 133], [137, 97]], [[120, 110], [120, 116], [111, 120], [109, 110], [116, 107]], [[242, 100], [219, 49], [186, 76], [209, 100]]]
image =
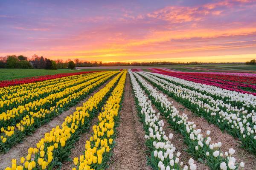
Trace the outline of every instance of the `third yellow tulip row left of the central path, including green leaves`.
[[64, 99], [61, 99], [56, 103], [55, 106], [50, 109], [40, 109], [40, 111], [30, 112], [29, 115], [23, 117], [23, 119], [18, 122], [15, 126], [9, 126], [6, 129], [2, 127], [3, 133], [1, 134], [0, 140], [0, 151], [9, 150], [17, 142], [21, 142], [27, 134], [31, 134], [38, 127], [49, 122], [53, 117], [58, 116], [64, 110], [67, 110], [70, 106], [75, 105], [81, 99], [86, 97], [90, 92], [94, 91], [97, 87], [102, 85], [105, 81], [113, 77], [116, 74], [109, 74], [103, 77], [97, 82], [86, 86], [79, 92], [70, 94]]

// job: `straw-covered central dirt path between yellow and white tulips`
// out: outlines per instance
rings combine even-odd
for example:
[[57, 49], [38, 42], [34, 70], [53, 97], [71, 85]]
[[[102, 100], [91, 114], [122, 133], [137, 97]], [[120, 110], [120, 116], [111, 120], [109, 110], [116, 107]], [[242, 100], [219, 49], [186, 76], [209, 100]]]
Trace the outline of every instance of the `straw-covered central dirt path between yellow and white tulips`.
[[108, 170], [151, 170], [147, 166], [143, 125], [137, 117], [130, 76], [127, 74], [116, 146]]

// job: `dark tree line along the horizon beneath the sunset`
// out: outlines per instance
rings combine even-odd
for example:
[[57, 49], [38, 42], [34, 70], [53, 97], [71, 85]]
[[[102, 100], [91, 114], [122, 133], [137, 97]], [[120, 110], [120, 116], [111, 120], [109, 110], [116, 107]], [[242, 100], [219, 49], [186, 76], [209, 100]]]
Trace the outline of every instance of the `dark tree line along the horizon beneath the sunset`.
[[[23, 55], [9, 55], [6, 57], [0, 57], [0, 68], [37, 68], [37, 69], [58, 69], [58, 68], [75, 68], [75, 67], [93, 67], [93, 66], [154, 66], [154, 65], [201, 65], [201, 64], [217, 64], [212, 62], [101, 62], [101, 61], [82, 61], [74, 59], [74, 61], [68, 59], [63, 61], [62, 59], [51, 60], [39, 57], [34, 54], [28, 58]], [[227, 62], [219, 62], [218, 64], [228, 64]], [[233, 63], [234, 64], [234, 63]], [[238, 62], [237, 64], [241, 64]], [[256, 64], [255, 59], [246, 64]]]

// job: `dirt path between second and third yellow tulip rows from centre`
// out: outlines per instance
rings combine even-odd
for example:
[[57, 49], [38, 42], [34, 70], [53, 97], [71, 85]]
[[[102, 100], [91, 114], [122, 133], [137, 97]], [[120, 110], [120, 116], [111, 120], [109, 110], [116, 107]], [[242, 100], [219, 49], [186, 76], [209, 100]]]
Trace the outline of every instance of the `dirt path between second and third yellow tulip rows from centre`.
[[[115, 76], [114, 76], [115, 77]], [[113, 79], [113, 77], [111, 78]], [[108, 80], [108, 82], [111, 81]], [[7, 166], [12, 165], [12, 159], [17, 159], [17, 162], [20, 161], [20, 157], [26, 156], [28, 153], [29, 147], [35, 147], [35, 144], [41, 139], [44, 138], [44, 133], [49, 132], [52, 130], [53, 127], [60, 125], [64, 122], [65, 118], [76, 111], [76, 107], [82, 106], [90, 96], [97, 93], [101, 88], [103, 88], [108, 82], [105, 82], [101, 85], [97, 90], [93, 91], [93, 93], [89, 94], [85, 99], [81, 100], [76, 106], [71, 107], [69, 110], [64, 111], [61, 115], [53, 118], [49, 123], [41, 126], [31, 136], [26, 136], [23, 139], [22, 143], [13, 146], [7, 153], [0, 155], [0, 170], [6, 168]]]

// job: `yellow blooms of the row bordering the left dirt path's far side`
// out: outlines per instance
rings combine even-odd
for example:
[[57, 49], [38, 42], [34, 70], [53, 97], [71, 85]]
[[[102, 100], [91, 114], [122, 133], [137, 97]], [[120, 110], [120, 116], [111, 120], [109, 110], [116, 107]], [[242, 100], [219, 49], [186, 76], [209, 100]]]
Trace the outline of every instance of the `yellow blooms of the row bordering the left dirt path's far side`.
[[[37, 112], [30, 112], [29, 115], [26, 115], [23, 117], [23, 119], [18, 122], [15, 126], [8, 126], [7, 128], [1, 128], [1, 132], [3, 133], [1, 136], [2, 141], [0, 140], [0, 143], [5, 143], [6, 140], [12, 138], [13, 136], [16, 137], [15, 135], [18, 136], [19, 133], [22, 133], [23, 131], [26, 133], [28, 130], [32, 130], [31, 127], [34, 127], [34, 123], [36, 119], [38, 121], [38, 124], [43, 124], [43, 119], [47, 117], [54, 117], [57, 116], [58, 113], [61, 113], [61, 110], [63, 110], [64, 105], [68, 105], [75, 99], [80, 99], [81, 96], [85, 96], [86, 94], [89, 93], [90, 90], [93, 88], [97, 87], [98, 85], [102, 84], [105, 82], [107, 79], [112, 77], [116, 72], [112, 72], [106, 77], [103, 77], [102, 79], [99, 79], [99, 81], [94, 82], [91, 85], [86, 86], [84, 89], [82, 89], [79, 92], [76, 92], [74, 94], [70, 94], [64, 99], [59, 100], [54, 107], [51, 107], [50, 109], [40, 109], [40, 111]], [[37, 127], [39, 125], [37, 124]], [[15, 128], [16, 127], [16, 128]], [[20, 135], [19, 135], [20, 136]], [[21, 139], [20, 139], [21, 140]], [[17, 141], [17, 139], [15, 139]], [[6, 144], [6, 146], [9, 146], [10, 143], [12, 144], [11, 141]], [[3, 145], [3, 144], [2, 144]], [[7, 148], [9, 149], [9, 148]], [[1, 147], [0, 147], [1, 150]]]

